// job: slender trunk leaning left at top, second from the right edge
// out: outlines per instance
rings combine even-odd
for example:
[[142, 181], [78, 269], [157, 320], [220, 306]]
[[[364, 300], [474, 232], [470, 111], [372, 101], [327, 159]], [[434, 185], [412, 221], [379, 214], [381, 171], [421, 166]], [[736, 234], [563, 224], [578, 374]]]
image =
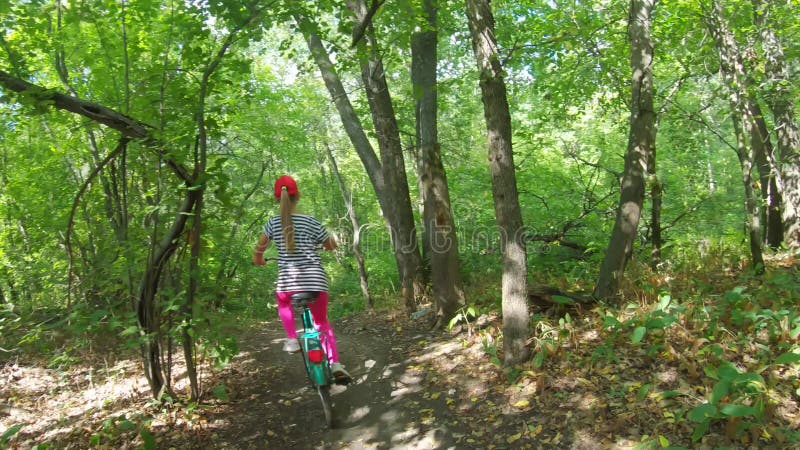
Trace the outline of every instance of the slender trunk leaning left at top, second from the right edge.
[[711, 11], [706, 14], [706, 24], [714, 37], [720, 61], [720, 73], [728, 87], [728, 101], [731, 107], [733, 129], [736, 133], [736, 153], [742, 168], [742, 184], [745, 193], [745, 228], [750, 239], [752, 265], [757, 271], [764, 270], [763, 241], [761, 239], [761, 217], [758, 198], [753, 189], [753, 146], [752, 136], [757, 135], [755, 119], [750, 104], [754, 100], [747, 91], [748, 78], [745, 73], [739, 47], [724, 17], [722, 4], [713, 0]]

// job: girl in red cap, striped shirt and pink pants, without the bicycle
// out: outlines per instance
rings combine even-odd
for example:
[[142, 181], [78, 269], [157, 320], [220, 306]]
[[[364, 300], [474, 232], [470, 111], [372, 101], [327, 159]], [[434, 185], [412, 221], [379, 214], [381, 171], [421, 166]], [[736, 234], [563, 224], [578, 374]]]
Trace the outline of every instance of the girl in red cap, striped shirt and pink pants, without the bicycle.
[[349, 379], [350, 374], [339, 362], [336, 337], [328, 322], [328, 277], [317, 252], [320, 245], [325, 250], [335, 249], [336, 241], [314, 216], [296, 212], [300, 191], [292, 177], [283, 175], [275, 181], [275, 199], [280, 202], [280, 216], [271, 217], [264, 225], [253, 250], [253, 264], [265, 264], [264, 251], [270, 242], [274, 242], [278, 249], [278, 287], [275, 297], [278, 300], [278, 316], [287, 337], [283, 350], [289, 353], [300, 351], [291, 304], [292, 294], [317, 292], [317, 299], [311, 305], [314, 325], [324, 336], [323, 348], [334, 378]]

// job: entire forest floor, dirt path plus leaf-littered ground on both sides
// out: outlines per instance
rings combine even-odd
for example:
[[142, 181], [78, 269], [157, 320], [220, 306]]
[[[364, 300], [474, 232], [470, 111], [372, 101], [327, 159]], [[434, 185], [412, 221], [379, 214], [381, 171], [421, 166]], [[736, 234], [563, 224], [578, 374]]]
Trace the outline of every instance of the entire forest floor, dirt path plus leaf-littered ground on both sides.
[[[781, 296], [795, 302], [796, 295]], [[204, 369], [199, 405], [153, 402], [135, 355], [61, 370], [11, 358], [0, 367], [0, 436], [11, 434], [10, 448], [37, 450], [796, 448], [797, 364], [759, 369], [764, 390], [755, 394], [726, 390], [717, 401], [733, 405], [727, 416], [709, 417], [710, 427], [692, 439], [700, 420], [687, 419], [692, 408], [725, 387], [717, 382], [720, 357], [750, 373], [760, 364], [754, 352], [763, 361], [781, 350], [748, 349], [744, 336], [715, 356], [697, 337], [696, 324], [707, 320], [665, 316], [673, 310], [660, 307], [636, 323], [674, 315], [677, 326], [637, 336], [640, 326], [633, 339], [635, 324], [609, 326], [607, 312], [551, 311], [553, 320], [538, 322], [531, 341], [534, 354], [546, 358], [512, 370], [500, 364], [496, 316], [449, 331], [432, 330], [431, 314], [414, 320], [376, 311], [337, 319], [341, 360], [354, 382], [333, 390], [333, 429], [325, 426], [299, 356], [281, 351], [277, 319], [237, 330], [240, 352], [221, 370]], [[782, 348], [797, 342], [796, 335], [776, 339]], [[185, 379], [178, 377], [176, 389], [185, 392]], [[742, 420], [739, 412], [758, 399], [767, 405], [760, 420]]]

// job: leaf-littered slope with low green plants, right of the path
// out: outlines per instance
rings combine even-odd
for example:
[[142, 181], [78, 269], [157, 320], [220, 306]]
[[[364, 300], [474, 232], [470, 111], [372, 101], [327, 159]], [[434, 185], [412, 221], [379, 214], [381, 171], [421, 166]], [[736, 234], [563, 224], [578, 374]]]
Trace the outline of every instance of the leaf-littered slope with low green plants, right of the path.
[[[607, 425], [609, 435], [638, 430], [639, 448], [800, 445], [798, 263], [773, 258], [755, 276], [718, 256], [659, 272], [633, 263], [619, 301], [591, 309], [554, 296], [553, 307], [531, 311], [531, 359], [502, 370], [512, 385], [560, 392], [562, 407], [567, 397], [592, 399], [586, 419], [608, 418], [594, 427]], [[536, 282], [573, 292], [590, 284]], [[496, 296], [478, 300], [499, 315]], [[487, 357], [501, 368], [501, 327], [483, 333]], [[575, 389], [564, 377], [587, 382]], [[538, 409], [559, 403], [534, 400]]]

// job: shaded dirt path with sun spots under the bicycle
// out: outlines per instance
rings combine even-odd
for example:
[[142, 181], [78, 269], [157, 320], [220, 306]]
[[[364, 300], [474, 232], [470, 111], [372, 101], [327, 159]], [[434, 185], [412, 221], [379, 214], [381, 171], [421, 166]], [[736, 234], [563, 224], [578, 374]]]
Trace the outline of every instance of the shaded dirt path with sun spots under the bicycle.
[[[192, 445], [220, 449], [452, 448], [452, 431], [440, 421], [448, 411], [445, 399], [426, 395], [423, 377], [409, 371], [413, 362], [408, 354], [410, 343], [432, 336], [423, 324], [417, 325], [416, 330], [400, 327], [398, 332], [389, 321], [369, 316], [334, 323], [341, 361], [354, 382], [332, 390], [336, 423], [331, 430], [325, 426], [319, 399], [308, 387], [299, 357], [281, 351], [284, 335], [279, 324], [265, 323], [248, 334], [241, 354], [221, 377], [220, 382], [230, 390], [228, 402], [206, 415], [210, 433], [198, 435]], [[432, 420], [434, 417], [439, 420]]]

